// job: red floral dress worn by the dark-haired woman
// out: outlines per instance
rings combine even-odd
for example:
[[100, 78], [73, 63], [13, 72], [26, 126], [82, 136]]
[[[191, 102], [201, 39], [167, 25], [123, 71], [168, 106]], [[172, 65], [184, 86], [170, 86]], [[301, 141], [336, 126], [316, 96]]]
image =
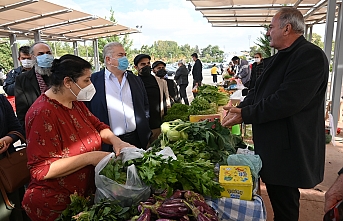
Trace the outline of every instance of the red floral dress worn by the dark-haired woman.
[[70, 175], [43, 180], [52, 162], [100, 150], [99, 131], [109, 128], [82, 103], [71, 109], [42, 94], [25, 118], [28, 166], [31, 182], [22, 205], [32, 220], [55, 220], [70, 204], [70, 194], [94, 193], [94, 166]]

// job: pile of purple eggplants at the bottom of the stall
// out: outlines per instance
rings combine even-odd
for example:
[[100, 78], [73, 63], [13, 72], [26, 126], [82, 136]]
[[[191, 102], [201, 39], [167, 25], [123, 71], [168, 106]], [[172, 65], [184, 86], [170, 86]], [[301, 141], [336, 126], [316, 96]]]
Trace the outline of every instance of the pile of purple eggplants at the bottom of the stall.
[[170, 198], [152, 196], [138, 206], [139, 216], [132, 221], [218, 221], [216, 212], [205, 198], [193, 191], [176, 190]]

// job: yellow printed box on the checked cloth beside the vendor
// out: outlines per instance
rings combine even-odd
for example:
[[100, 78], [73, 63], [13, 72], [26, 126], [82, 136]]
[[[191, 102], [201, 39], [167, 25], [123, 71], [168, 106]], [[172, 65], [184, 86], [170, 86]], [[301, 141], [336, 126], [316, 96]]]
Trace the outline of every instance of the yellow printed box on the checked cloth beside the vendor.
[[221, 196], [251, 200], [253, 182], [248, 166], [220, 166], [219, 183], [224, 188]]

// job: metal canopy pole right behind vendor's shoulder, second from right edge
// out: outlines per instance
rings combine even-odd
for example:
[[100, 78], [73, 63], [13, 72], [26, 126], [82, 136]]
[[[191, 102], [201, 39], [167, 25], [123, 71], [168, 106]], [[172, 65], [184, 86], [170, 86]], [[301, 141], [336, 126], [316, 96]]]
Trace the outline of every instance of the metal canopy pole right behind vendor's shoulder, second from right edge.
[[[326, 57], [328, 58], [329, 64], [331, 63], [331, 51], [332, 51], [332, 39], [333, 39], [333, 28], [335, 22], [335, 14], [336, 14], [336, 0], [328, 0], [327, 5], [327, 13], [326, 13], [326, 25], [325, 25], [325, 34], [324, 34], [324, 52]], [[326, 99], [331, 99], [331, 91], [332, 91], [332, 74], [329, 75], [329, 82], [328, 85], [328, 92], [326, 93]], [[329, 96], [327, 98], [327, 96]]]

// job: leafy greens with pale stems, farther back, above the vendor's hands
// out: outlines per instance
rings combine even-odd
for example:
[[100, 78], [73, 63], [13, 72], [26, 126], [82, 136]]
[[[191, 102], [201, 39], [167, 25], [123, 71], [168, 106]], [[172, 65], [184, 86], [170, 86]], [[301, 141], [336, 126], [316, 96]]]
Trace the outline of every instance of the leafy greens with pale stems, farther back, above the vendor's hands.
[[229, 97], [226, 93], [220, 92], [216, 86], [207, 84], [198, 87], [198, 96], [219, 106], [226, 105], [229, 102]]

